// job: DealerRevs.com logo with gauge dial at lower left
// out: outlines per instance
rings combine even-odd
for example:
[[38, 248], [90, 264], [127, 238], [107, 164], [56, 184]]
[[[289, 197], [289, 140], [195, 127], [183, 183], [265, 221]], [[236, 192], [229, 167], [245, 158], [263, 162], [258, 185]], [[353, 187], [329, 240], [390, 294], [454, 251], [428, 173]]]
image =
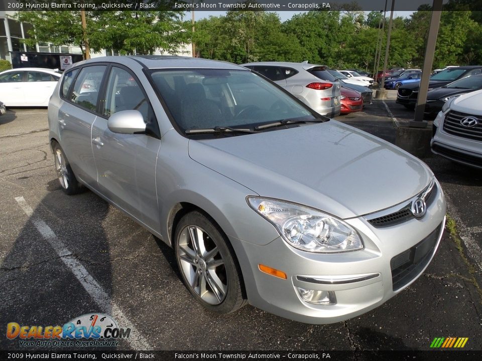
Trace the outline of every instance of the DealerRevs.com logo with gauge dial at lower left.
[[18, 338], [20, 346], [117, 346], [117, 339], [130, 335], [130, 328], [120, 328], [112, 317], [100, 313], [75, 317], [63, 326], [7, 324], [7, 338]]

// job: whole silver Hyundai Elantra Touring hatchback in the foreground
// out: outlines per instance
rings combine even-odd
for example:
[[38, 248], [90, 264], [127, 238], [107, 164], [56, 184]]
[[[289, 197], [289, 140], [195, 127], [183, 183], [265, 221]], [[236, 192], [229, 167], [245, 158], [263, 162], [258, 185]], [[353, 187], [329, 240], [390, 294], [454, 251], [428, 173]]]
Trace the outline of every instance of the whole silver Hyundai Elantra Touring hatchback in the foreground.
[[172, 246], [214, 312], [342, 321], [414, 282], [442, 236], [423, 162], [234, 64], [83, 61], [48, 115], [65, 193], [86, 187]]

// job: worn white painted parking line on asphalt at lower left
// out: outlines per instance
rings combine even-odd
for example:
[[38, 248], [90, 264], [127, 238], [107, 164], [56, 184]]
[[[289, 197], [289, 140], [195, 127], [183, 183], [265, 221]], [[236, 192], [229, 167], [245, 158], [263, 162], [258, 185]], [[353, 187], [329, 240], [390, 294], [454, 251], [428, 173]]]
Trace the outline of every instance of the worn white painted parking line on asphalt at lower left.
[[19, 204], [24, 213], [30, 217], [37, 231], [42, 237], [52, 246], [57, 252], [62, 262], [70, 269], [80, 284], [84, 287], [87, 293], [97, 303], [102, 310], [111, 309], [111, 316], [118, 320], [123, 327], [131, 329], [131, 337], [126, 341], [135, 350], [149, 350], [152, 349], [149, 342], [136, 329], [134, 324], [127, 318], [124, 312], [114, 302], [111, 301], [108, 294], [99, 285], [99, 283], [87, 272], [85, 267], [79, 260], [70, 252], [67, 247], [59, 240], [54, 231], [39, 217], [34, 216], [32, 207], [25, 201], [24, 197], [16, 197], [15, 200]]

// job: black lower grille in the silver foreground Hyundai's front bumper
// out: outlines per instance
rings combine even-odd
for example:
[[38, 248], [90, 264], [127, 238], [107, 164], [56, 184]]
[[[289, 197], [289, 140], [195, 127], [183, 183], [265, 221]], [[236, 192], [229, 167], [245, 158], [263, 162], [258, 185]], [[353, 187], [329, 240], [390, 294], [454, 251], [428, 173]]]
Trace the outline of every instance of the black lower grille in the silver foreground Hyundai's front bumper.
[[435, 252], [435, 247], [441, 232], [442, 224], [421, 242], [390, 260], [392, 288], [394, 291], [410, 283], [422, 272]]

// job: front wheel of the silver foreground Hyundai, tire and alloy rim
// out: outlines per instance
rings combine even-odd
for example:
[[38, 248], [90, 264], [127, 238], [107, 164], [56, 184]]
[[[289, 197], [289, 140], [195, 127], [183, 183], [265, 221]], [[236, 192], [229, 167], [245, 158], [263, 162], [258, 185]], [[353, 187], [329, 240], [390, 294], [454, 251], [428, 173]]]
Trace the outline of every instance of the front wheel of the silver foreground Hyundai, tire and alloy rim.
[[[201, 246], [199, 236], [202, 236]], [[192, 241], [193, 237], [197, 242]], [[175, 231], [174, 250], [184, 284], [206, 309], [225, 314], [247, 303], [234, 252], [222, 230], [207, 216], [194, 211], [180, 219]]]

